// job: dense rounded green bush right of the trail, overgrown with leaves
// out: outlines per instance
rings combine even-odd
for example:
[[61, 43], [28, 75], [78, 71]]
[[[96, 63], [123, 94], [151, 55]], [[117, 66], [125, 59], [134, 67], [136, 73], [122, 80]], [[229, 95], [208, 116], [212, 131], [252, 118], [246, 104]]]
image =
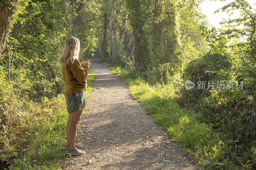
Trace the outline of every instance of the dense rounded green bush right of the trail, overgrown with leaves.
[[[232, 70], [232, 66], [232, 57], [229, 55], [208, 53], [191, 61], [183, 71], [181, 78], [183, 85], [185, 85], [186, 80], [190, 80], [195, 83], [195, 88], [186, 90], [183, 86], [180, 89], [180, 98], [177, 99], [177, 102], [180, 105], [190, 105], [209, 96], [211, 93], [209, 92], [210, 89], [207, 89], [208, 81], [233, 80], [234, 77], [231, 74], [226, 74]], [[206, 82], [205, 90], [196, 88], [199, 81]]]

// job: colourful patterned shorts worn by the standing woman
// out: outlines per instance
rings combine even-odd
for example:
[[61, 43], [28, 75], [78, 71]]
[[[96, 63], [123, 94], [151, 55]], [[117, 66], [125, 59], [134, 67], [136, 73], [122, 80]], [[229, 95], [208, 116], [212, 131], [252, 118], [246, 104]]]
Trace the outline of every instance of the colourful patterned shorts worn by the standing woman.
[[84, 92], [67, 94], [64, 93], [66, 98], [68, 113], [72, 114], [78, 110], [83, 109], [86, 106], [86, 98]]

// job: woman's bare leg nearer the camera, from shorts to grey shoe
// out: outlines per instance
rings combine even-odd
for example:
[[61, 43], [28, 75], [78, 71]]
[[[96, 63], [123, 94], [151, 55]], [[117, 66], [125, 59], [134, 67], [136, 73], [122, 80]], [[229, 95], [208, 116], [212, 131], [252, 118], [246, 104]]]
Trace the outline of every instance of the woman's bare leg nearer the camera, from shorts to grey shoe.
[[83, 113], [83, 110], [84, 109], [81, 109], [71, 114], [71, 118], [68, 126], [68, 142], [69, 142], [68, 149], [73, 150], [75, 147], [77, 124], [80, 121], [80, 117]]

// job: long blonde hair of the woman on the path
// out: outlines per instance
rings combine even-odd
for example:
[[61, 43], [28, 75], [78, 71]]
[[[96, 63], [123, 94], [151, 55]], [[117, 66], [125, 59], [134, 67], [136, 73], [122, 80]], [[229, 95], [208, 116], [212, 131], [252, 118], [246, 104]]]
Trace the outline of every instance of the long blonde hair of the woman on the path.
[[66, 66], [69, 61], [74, 64], [75, 59], [78, 59], [78, 54], [80, 51], [80, 41], [76, 37], [68, 37], [65, 47], [58, 59], [58, 65], [63, 64]]

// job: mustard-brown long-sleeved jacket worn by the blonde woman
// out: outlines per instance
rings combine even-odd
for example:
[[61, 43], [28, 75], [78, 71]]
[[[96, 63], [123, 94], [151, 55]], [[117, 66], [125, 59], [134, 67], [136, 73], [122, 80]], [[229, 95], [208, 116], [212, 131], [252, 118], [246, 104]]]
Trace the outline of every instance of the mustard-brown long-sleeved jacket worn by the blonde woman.
[[74, 64], [71, 61], [66, 66], [62, 64], [62, 74], [63, 80], [66, 83], [65, 93], [80, 93], [87, 89], [89, 67], [82, 66], [78, 59], [75, 60]]

